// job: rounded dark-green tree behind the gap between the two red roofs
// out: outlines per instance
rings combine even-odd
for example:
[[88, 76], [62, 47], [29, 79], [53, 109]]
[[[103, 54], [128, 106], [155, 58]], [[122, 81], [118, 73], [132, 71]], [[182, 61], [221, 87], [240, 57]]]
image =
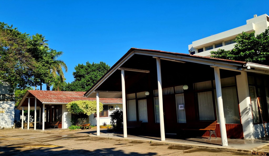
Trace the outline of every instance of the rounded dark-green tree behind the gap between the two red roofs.
[[65, 87], [65, 91], [83, 91], [89, 90], [95, 82], [97, 82], [108, 70], [108, 66], [104, 62], [78, 64], [73, 72], [75, 81], [68, 83]]

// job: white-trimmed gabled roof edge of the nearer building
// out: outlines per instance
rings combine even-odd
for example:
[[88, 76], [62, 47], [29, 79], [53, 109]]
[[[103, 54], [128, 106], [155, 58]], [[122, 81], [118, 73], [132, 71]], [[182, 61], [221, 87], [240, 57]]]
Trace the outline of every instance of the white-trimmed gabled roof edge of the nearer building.
[[[250, 62], [234, 61], [227, 59], [218, 59], [205, 56], [197, 56], [184, 53], [166, 52], [161, 50], [131, 48], [84, 94], [84, 96], [94, 97], [96, 94], [95, 92], [99, 92], [100, 97], [109, 97], [105, 95], [105, 92], [103, 92], [105, 90], [96, 90], [96, 89], [134, 55], [159, 57], [161, 59], [170, 61], [191, 62], [191, 63], [209, 65], [210, 67], [220, 67], [227, 70], [248, 71], [269, 75], [269, 66], [261, 64], [254, 64]], [[136, 64], [136, 61], [133, 61], [133, 63]], [[118, 93], [113, 93], [112, 95], [113, 96], [110, 97], [118, 97], [118, 98], [121, 97], [121, 93], [119, 91]]]

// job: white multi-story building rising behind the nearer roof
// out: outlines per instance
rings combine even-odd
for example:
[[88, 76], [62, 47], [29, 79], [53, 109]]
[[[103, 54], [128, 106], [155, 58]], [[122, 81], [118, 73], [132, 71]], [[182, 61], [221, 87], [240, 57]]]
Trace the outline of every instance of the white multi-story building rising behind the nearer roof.
[[218, 49], [232, 50], [236, 44], [234, 39], [238, 34], [253, 31], [255, 31], [255, 35], [260, 34], [268, 26], [269, 16], [267, 14], [254, 15], [254, 18], [247, 20], [246, 25], [193, 41], [189, 45], [189, 54], [210, 57], [211, 51], [217, 51]]

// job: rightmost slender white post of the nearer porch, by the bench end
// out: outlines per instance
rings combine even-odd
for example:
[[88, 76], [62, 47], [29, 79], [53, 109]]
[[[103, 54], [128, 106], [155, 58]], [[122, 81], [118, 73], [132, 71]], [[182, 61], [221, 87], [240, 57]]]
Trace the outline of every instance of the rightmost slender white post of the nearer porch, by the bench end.
[[222, 103], [219, 67], [214, 67], [214, 74], [215, 74], [215, 83], [216, 83], [216, 92], [217, 92], [217, 101], [218, 101], [218, 113], [219, 113], [219, 119], [220, 119], [221, 142], [222, 142], [222, 146], [228, 146], [225, 120], [224, 120], [223, 103]]

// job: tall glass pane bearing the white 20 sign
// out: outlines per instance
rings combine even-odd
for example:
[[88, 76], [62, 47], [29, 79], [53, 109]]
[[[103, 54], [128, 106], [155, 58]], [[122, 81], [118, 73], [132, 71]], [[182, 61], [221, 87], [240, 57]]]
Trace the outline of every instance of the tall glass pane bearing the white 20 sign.
[[176, 111], [178, 115], [178, 123], [186, 123], [184, 94], [176, 95]]

